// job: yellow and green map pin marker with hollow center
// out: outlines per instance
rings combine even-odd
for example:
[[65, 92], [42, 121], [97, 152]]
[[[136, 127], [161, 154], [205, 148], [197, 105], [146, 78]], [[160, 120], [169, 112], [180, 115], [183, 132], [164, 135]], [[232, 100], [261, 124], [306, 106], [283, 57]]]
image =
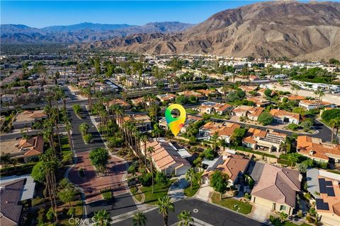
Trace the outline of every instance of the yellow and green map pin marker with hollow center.
[[[172, 117], [171, 112], [174, 109], [179, 110], [179, 117]], [[165, 119], [166, 124], [168, 124], [171, 132], [174, 133], [174, 136], [177, 136], [177, 134], [179, 134], [179, 131], [181, 131], [181, 128], [184, 126], [184, 122], [186, 121], [186, 109], [184, 109], [182, 105], [170, 105], [165, 110]]]

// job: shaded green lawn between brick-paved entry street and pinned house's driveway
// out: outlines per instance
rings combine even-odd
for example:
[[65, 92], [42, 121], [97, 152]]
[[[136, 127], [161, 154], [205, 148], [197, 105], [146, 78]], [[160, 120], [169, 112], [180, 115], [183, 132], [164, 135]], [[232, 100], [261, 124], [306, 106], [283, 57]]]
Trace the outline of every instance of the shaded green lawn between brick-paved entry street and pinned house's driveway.
[[170, 180], [166, 185], [155, 184], [154, 193], [152, 193], [152, 186], [142, 186], [140, 190], [145, 195], [144, 203], [157, 204], [158, 198], [163, 198], [168, 194], [169, 187], [174, 181], [175, 180]]

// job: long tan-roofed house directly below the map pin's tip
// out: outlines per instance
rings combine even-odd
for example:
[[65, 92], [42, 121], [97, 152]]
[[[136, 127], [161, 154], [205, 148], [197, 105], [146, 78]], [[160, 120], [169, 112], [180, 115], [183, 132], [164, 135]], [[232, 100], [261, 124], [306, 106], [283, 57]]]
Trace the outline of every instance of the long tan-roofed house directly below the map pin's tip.
[[[149, 155], [145, 153], [145, 145], [140, 145], [142, 154]], [[159, 172], [164, 172], [164, 174], [170, 176], [175, 174], [176, 176], [186, 174], [188, 169], [191, 168], [190, 163], [186, 160], [188, 152], [182, 150], [183, 148], [178, 148], [174, 144], [165, 141], [156, 141], [155, 139], [149, 138], [147, 141], [147, 149], [149, 147], [154, 148], [151, 154], [152, 163], [154, 167]]]

